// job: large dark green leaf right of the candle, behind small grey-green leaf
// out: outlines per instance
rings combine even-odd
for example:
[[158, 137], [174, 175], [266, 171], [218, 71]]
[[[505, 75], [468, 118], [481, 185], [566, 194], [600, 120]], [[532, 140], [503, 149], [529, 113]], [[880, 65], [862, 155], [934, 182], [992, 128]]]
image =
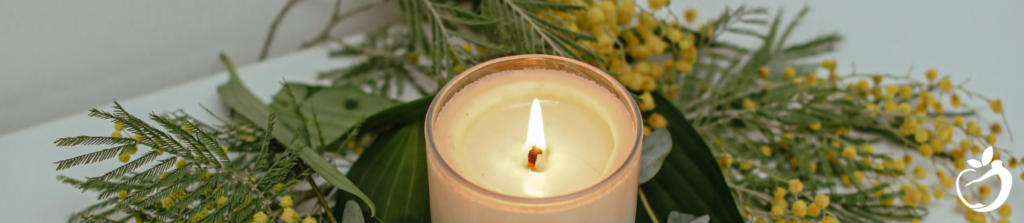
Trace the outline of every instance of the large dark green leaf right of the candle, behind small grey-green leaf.
[[[673, 211], [710, 215], [711, 222], [743, 222], [708, 144], [672, 102], [660, 94], [652, 96], [657, 104], [653, 112], [669, 122], [666, 128], [672, 136], [672, 151], [662, 170], [640, 185], [658, 222], [666, 222]], [[652, 222], [641, 211], [643, 204], [637, 207], [637, 222]]]

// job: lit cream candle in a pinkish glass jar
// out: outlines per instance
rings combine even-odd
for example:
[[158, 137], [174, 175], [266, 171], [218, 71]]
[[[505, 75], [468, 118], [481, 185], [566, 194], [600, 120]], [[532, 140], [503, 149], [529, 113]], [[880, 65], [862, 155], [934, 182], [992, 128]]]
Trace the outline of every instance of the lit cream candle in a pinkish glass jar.
[[427, 116], [434, 222], [633, 222], [641, 126], [629, 92], [551, 55], [480, 63]]

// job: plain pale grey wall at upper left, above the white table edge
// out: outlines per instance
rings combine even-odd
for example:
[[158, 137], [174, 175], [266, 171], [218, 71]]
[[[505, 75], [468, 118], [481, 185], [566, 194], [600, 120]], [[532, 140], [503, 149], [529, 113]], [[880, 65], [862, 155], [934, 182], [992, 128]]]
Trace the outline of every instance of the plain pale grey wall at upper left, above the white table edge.
[[[217, 55], [257, 60], [276, 1], [0, 1], [0, 135], [223, 71]], [[345, 0], [342, 11], [370, 1]], [[270, 57], [299, 49], [332, 12], [332, 0], [299, 2]], [[344, 21], [354, 34], [389, 19], [375, 7]], [[371, 15], [378, 15], [374, 17]]]

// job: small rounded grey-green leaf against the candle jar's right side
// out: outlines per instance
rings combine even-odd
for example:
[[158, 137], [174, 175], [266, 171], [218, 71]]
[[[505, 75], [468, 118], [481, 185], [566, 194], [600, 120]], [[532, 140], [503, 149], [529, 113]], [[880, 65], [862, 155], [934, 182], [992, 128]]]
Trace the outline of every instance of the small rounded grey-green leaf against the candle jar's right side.
[[654, 130], [643, 139], [643, 152], [640, 154], [640, 183], [653, 178], [665, 163], [665, 157], [672, 150], [672, 136], [665, 128]]

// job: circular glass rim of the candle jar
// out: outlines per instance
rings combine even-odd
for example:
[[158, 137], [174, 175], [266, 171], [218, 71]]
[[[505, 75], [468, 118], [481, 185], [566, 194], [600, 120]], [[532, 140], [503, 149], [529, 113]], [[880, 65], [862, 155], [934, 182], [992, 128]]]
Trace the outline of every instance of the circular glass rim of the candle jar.
[[[553, 61], [565, 62], [565, 63], [567, 63], [567, 64], [569, 64], [571, 66], [574, 66], [575, 69], [580, 69], [580, 70], [592, 73], [593, 76], [600, 77], [600, 79], [601, 79], [600, 81], [599, 80], [594, 80], [595, 82], [597, 82], [598, 85], [601, 85], [602, 87], [605, 87], [606, 89], [608, 89], [610, 87], [610, 89], [608, 89], [610, 91], [610, 93], [612, 93], [616, 97], [620, 97], [620, 99], [623, 100], [624, 102], [626, 102], [626, 101], [629, 102], [628, 104], [624, 104], [624, 105], [628, 106], [627, 107], [628, 114], [633, 119], [633, 125], [634, 125], [633, 128], [634, 128], [634, 130], [636, 132], [635, 136], [634, 136], [635, 140], [634, 140], [634, 143], [633, 143], [633, 146], [632, 146], [632, 150], [630, 151], [629, 157], [626, 158], [626, 160], [623, 162], [622, 166], [620, 166], [617, 169], [615, 169], [612, 174], [610, 174], [607, 177], [601, 179], [599, 182], [595, 183], [594, 185], [591, 185], [591, 186], [589, 186], [589, 187], [587, 187], [585, 189], [579, 190], [579, 191], [574, 191], [574, 192], [570, 192], [570, 193], [566, 193], [566, 194], [562, 194], [562, 195], [557, 195], [557, 196], [550, 196], [550, 197], [522, 197], [522, 196], [514, 196], [514, 195], [503, 194], [503, 193], [500, 193], [500, 192], [497, 192], [497, 191], [494, 191], [494, 190], [490, 190], [490, 189], [487, 189], [487, 188], [480, 187], [479, 185], [476, 185], [475, 183], [469, 182], [465, 177], [463, 177], [462, 175], [456, 173], [455, 170], [452, 169], [452, 166], [449, 165], [449, 163], [444, 160], [444, 158], [440, 155], [440, 152], [437, 150], [437, 146], [434, 144], [434, 139], [433, 139], [433, 126], [434, 126], [434, 122], [435, 122], [436, 118], [438, 117], [438, 115], [440, 114], [441, 108], [443, 107], [443, 104], [447, 102], [447, 100], [440, 101], [440, 99], [443, 98], [443, 97], [445, 97], [445, 96], [447, 96], [449, 99], [451, 99], [452, 95], [455, 95], [456, 93], [458, 93], [458, 91], [460, 89], [453, 89], [457, 85], [456, 83], [461, 83], [461, 82], [465, 81], [465, 79], [468, 78], [470, 76], [470, 74], [474, 74], [475, 72], [478, 72], [480, 70], [483, 70], [483, 69], [492, 66], [492, 65], [506, 63], [506, 62], [512, 62], [512, 61], [516, 61], [516, 60], [523, 60], [523, 59], [545, 59], [545, 60], [553, 60]], [[591, 79], [591, 80], [593, 80], [593, 79]], [[607, 86], [607, 85], [611, 85], [611, 86]], [[500, 57], [500, 58], [494, 58], [494, 59], [481, 62], [479, 64], [476, 64], [476, 65], [474, 65], [474, 66], [472, 66], [472, 68], [464, 71], [463, 73], [459, 74], [458, 76], [456, 76], [455, 78], [453, 78], [451, 81], [449, 81], [449, 83], [445, 84], [444, 87], [442, 87], [440, 90], [437, 91], [437, 94], [434, 96], [433, 100], [430, 102], [430, 107], [427, 108], [426, 122], [424, 123], [424, 133], [426, 134], [425, 136], [426, 136], [427, 155], [428, 157], [434, 157], [434, 158], [436, 158], [436, 160], [439, 161], [439, 163], [440, 163], [440, 165], [438, 165], [439, 166], [439, 168], [438, 168], [439, 171], [443, 172], [444, 175], [454, 175], [455, 177], [452, 177], [452, 178], [455, 179], [457, 181], [457, 183], [469, 185], [468, 187], [471, 188], [475, 192], [478, 192], [480, 194], [484, 194], [484, 195], [493, 197], [493, 198], [498, 198], [498, 199], [501, 199], [501, 200], [513, 202], [513, 203], [527, 203], [527, 204], [545, 204], [545, 203], [556, 203], [556, 202], [568, 200], [568, 199], [571, 199], [571, 198], [574, 198], [574, 197], [579, 197], [579, 196], [583, 196], [585, 194], [592, 193], [594, 191], [598, 191], [601, 188], [606, 187], [605, 185], [611, 184], [612, 183], [612, 179], [616, 179], [620, 176], [626, 174], [626, 172], [628, 172], [627, 169], [629, 167], [631, 167], [633, 163], [638, 162], [638, 161], [635, 161], [635, 160], [637, 160], [636, 158], [640, 155], [640, 150], [641, 150], [640, 145], [642, 143], [642, 137], [643, 137], [643, 126], [642, 126], [643, 125], [643, 121], [642, 121], [642, 119], [643, 118], [640, 116], [640, 108], [639, 108], [639, 106], [637, 106], [637, 103], [633, 99], [630, 91], [628, 91], [626, 89], [626, 87], [624, 87], [622, 84], [620, 84], [614, 78], [612, 78], [610, 75], [608, 75], [604, 71], [601, 71], [600, 69], [595, 68], [595, 66], [593, 66], [591, 64], [588, 64], [586, 62], [583, 62], [583, 61], [580, 61], [580, 60], [575, 60], [575, 59], [571, 59], [571, 58], [567, 58], [567, 57], [563, 57], [563, 56], [548, 55], [548, 54], [520, 54], [520, 55], [511, 55], [511, 56], [505, 56], [505, 57]], [[637, 183], [639, 183], [639, 182], [637, 182]]]

